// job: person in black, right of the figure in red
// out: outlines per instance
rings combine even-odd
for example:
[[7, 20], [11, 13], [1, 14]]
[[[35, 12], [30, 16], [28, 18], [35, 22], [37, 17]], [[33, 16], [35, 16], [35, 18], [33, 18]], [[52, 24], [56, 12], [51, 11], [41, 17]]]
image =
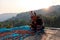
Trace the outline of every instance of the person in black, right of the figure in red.
[[36, 19], [36, 24], [37, 24], [37, 31], [40, 32], [40, 33], [45, 33], [44, 32], [44, 25], [43, 25], [43, 20], [41, 17], [37, 16], [37, 19]]

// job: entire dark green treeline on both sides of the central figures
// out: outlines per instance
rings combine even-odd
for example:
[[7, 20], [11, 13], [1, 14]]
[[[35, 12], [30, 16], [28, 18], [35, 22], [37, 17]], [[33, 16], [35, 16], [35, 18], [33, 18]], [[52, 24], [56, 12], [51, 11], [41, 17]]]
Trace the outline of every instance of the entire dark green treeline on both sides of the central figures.
[[[41, 14], [39, 16], [43, 18], [44, 25], [46, 27], [60, 27], [60, 16], [42, 16]], [[27, 22], [26, 20], [23, 19], [7, 20], [4, 22], [0, 22], [0, 28], [3, 27], [11, 28], [11, 27], [19, 27], [22, 25], [29, 25], [30, 22], [31, 21]]]

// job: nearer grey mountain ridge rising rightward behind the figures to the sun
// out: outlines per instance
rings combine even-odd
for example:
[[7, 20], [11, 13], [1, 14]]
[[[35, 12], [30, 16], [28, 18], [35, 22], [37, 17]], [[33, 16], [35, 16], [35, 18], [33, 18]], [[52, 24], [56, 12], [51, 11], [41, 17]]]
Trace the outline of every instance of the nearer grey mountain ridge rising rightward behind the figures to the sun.
[[[47, 11], [45, 9], [35, 10], [37, 15], [41, 14], [44, 16], [60, 16], [60, 5], [51, 6]], [[16, 17], [11, 18], [10, 20], [30, 20], [30, 12], [22, 12], [16, 15]], [[14, 14], [13, 14], [14, 15]]]

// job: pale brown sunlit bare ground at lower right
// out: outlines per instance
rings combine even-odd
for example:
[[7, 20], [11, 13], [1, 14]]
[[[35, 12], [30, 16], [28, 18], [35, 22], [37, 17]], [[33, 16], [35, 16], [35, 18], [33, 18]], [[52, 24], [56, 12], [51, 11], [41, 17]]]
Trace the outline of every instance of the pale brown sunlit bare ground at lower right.
[[45, 32], [46, 35], [43, 35], [42, 38], [40, 38], [41, 37], [40, 35], [38, 36], [34, 35], [34, 36], [27, 37], [24, 40], [60, 40], [59, 30], [47, 29]]

